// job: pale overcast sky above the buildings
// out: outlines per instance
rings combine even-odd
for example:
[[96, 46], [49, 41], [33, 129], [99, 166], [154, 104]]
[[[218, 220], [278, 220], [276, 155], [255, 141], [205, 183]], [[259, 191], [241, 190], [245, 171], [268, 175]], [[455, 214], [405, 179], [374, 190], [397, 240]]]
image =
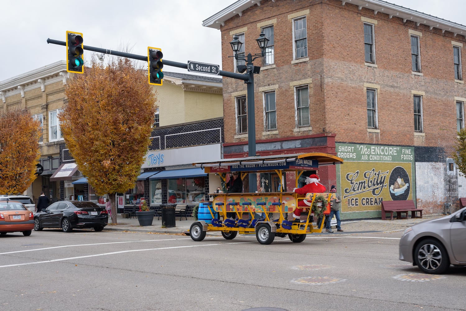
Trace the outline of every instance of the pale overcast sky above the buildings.
[[[115, 50], [130, 47], [130, 53], [138, 55], [147, 55], [148, 46], [160, 47], [166, 60], [221, 66], [220, 31], [203, 27], [202, 21], [234, 2], [2, 0], [0, 81], [65, 60], [65, 47], [47, 44], [46, 40], [65, 41], [67, 30], [81, 32], [84, 45], [92, 47]], [[388, 2], [466, 25], [465, 0]], [[84, 51], [85, 61], [90, 53]], [[164, 70], [187, 72], [167, 66]]]

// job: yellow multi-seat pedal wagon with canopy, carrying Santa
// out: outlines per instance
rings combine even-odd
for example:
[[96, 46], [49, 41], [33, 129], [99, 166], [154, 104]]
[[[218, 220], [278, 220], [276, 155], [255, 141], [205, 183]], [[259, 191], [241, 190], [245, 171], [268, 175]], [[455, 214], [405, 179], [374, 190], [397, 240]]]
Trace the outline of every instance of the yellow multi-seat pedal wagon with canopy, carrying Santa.
[[[295, 187], [298, 179], [306, 170], [315, 170], [323, 165], [343, 163], [343, 159], [326, 153], [305, 153], [276, 156], [254, 156], [217, 161], [193, 163], [206, 173], [226, 173], [237, 171], [244, 177], [248, 173], [275, 172], [283, 182], [284, 173], [295, 172]], [[286, 174], [286, 173], [285, 173]], [[284, 183], [282, 183], [284, 184]], [[283, 190], [284, 187], [280, 187]], [[270, 244], [275, 237], [288, 235], [292, 242], [304, 241], [308, 233], [322, 232], [323, 221], [315, 226], [311, 220], [310, 206], [306, 221], [288, 221], [288, 213], [293, 213], [301, 200], [313, 204], [319, 199], [323, 202], [324, 214], [329, 213], [330, 200], [334, 193], [307, 193], [305, 196], [295, 192], [255, 192], [255, 193], [210, 193], [213, 201], [205, 203], [212, 221], [192, 223], [190, 235], [194, 241], [202, 241], [207, 232], [220, 231], [227, 240], [240, 234], [255, 234], [261, 244]], [[300, 207], [301, 208], [301, 207]], [[235, 217], [227, 217], [234, 215]]]

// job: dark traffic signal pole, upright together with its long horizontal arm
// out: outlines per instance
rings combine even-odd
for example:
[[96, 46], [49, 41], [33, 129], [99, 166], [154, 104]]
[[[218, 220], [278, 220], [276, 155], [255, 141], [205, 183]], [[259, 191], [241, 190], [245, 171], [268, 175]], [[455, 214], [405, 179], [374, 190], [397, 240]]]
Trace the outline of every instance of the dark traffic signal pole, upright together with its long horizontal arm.
[[[58, 44], [66, 46], [65, 41], [58, 41], [54, 39], [47, 39], [47, 43]], [[87, 45], [83, 45], [82, 47], [84, 50], [98, 52], [102, 54], [109, 54], [115, 56], [121, 56], [126, 58], [131, 58], [139, 61], [149, 61], [149, 57], [147, 55], [137, 55], [137, 54], [130, 54], [125, 52], [119, 52], [114, 50], [109, 50], [106, 48], [101, 47], [89, 47]], [[247, 84], [247, 149], [248, 149], [248, 156], [256, 156], [256, 128], [255, 128], [255, 111], [254, 111], [254, 65], [252, 55], [249, 53], [247, 55], [247, 73], [246, 74], [237, 74], [234, 72], [229, 71], [219, 71], [219, 75], [227, 78], [233, 78], [237, 80], [243, 80]], [[176, 61], [167, 61], [163, 60], [164, 66], [172, 66], [178, 68], [188, 69], [188, 64], [179, 63]], [[256, 192], [257, 191], [257, 177], [256, 174], [249, 174], [249, 192]]]

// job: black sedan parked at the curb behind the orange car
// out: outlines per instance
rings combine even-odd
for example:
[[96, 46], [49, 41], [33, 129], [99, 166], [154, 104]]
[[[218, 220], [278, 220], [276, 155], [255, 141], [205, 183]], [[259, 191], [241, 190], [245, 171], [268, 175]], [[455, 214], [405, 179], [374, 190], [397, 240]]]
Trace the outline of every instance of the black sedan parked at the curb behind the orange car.
[[105, 207], [90, 201], [58, 201], [48, 208], [34, 214], [34, 230], [43, 228], [62, 228], [71, 232], [75, 228], [94, 228], [102, 231], [108, 224], [109, 217]]

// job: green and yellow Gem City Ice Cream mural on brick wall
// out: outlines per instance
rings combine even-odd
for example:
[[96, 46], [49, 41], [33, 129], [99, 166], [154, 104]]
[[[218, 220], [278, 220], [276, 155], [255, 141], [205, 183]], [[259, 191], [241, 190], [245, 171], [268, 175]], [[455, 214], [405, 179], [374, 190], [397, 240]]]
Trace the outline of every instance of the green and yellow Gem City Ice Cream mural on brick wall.
[[[382, 201], [416, 200], [414, 148], [336, 143], [343, 212], [380, 211]], [[339, 174], [338, 174], [339, 173]]]

